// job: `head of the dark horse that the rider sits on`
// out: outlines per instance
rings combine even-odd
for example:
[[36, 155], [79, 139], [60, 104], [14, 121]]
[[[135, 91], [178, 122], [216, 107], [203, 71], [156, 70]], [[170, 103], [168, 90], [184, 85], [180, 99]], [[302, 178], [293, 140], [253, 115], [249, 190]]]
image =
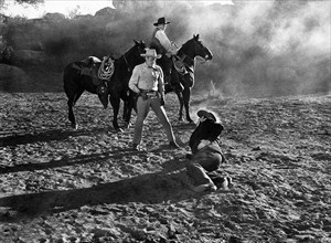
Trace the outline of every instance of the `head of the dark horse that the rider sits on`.
[[202, 43], [199, 34], [193, 34], [193, 38], [183, 44], [182, 51], [192, 59], [195, 56], [201, 56], [205, 61], [213, 59], [211, 50]]

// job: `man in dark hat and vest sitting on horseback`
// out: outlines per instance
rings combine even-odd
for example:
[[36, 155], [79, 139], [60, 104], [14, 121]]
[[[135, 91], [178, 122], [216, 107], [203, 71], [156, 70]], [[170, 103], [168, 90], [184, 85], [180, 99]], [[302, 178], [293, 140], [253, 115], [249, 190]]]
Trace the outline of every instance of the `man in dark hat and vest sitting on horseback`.
[[170, 22], [167, 22], [164, 17], [159, 18], [158, 22], [153, 23], [156, 29], [153, 30], [150, 42], [150, 49], [157, 50], [157, 53], [162, 55], [158, 63], [163, 70], [166, 83], [169, 83], [170, 80], [172, 64], [171, 56], [175, 55], [178, 52], [174, 42], [171, 42], [166, 34], [166, 29], [169, 23]]

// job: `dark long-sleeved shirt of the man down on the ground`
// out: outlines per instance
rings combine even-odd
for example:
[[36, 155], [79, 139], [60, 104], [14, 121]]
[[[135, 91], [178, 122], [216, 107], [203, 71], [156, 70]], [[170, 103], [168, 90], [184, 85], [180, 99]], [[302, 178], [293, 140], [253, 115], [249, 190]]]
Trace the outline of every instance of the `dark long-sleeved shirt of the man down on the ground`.
[[201, 140], [210, 140], [212, 142], [210, 148], [215, 152], [222, 154], [221, 148], [218, 146], [218, 136], [221, 135], [223, 129], [224, 127], [222, 124], [214, 123], [210, 119], [200, 123], [190, 137], [189, 145], [192, 150], [192, 154], [196, 154], [197, 146], [201, 142]]

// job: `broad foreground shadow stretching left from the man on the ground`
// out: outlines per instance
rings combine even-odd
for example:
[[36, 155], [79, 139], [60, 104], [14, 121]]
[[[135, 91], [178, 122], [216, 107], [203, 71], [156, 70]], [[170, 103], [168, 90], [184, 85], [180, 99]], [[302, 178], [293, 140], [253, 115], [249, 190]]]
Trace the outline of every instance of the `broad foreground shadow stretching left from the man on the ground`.
[[[173, 165], [178, 163], [174, 168]], [[0, 222], [15, 222], [81, 207], [129, 202], [161, 203], [199, 197], [186, 184], [185, 163], [174, 159], [163, 170], [90, 188], [26, 193], [0, 198]], [[108, 205], [109, 210], [111, 205]], [[3, 211], [4, 209], [4, 211]]]

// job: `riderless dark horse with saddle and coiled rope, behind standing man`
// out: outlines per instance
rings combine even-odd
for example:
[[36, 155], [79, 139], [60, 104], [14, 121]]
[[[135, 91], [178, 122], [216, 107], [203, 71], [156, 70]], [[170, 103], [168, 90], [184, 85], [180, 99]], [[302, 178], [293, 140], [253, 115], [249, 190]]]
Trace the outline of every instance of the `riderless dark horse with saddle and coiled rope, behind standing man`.
[[[122, 118], [125, 123], [129, 124], [131, 109], [135, 107], [135, 104], [128, 95], [128, 83], [134, 67], [145, 62], [145, 59], [140, 54], [145, 53], [146, 49], [143, 41], [134, 41], [135, 45], [132, 47], [130, 47], [118, 59], [114, 60], [114, 72], [110, 78], [105, 81], [104, 85], [96, 85], [95, 81], [99, 81], [98, 78], [94, 77], [93, 75], [84, 75], [84, 73], [82, 73], [83, 67], [86, 66], [86, 62], [73, 62], [65, 67], [63, 73], [63, 87], [67, 96], [68, 120], [71, 122], [73, 128], [77, 129], [78, 127], [73, 107], [85, 91], [92, 94], [97, 94], [104, 105], [104, 108], [107, 108], [109, 97], [109, 102], [114, 112], [113, 126], [119, 131], [121, 129], [118, 126], [117, 116], [119, 112], [120, 99], [122, 99]], [[105, 56], [104, 63], [110, 62], [110, 56]], [[94, 60], [95, 59], [92, 59], [92, 61]], [[100, 65], [102, 63], [99, 62], [93, 62], [93, 66], [89, 66], [89, 68], [93, 68], [94, 73], [96, 73]], [[107, 65], [105, 68], [108, 68]]]

